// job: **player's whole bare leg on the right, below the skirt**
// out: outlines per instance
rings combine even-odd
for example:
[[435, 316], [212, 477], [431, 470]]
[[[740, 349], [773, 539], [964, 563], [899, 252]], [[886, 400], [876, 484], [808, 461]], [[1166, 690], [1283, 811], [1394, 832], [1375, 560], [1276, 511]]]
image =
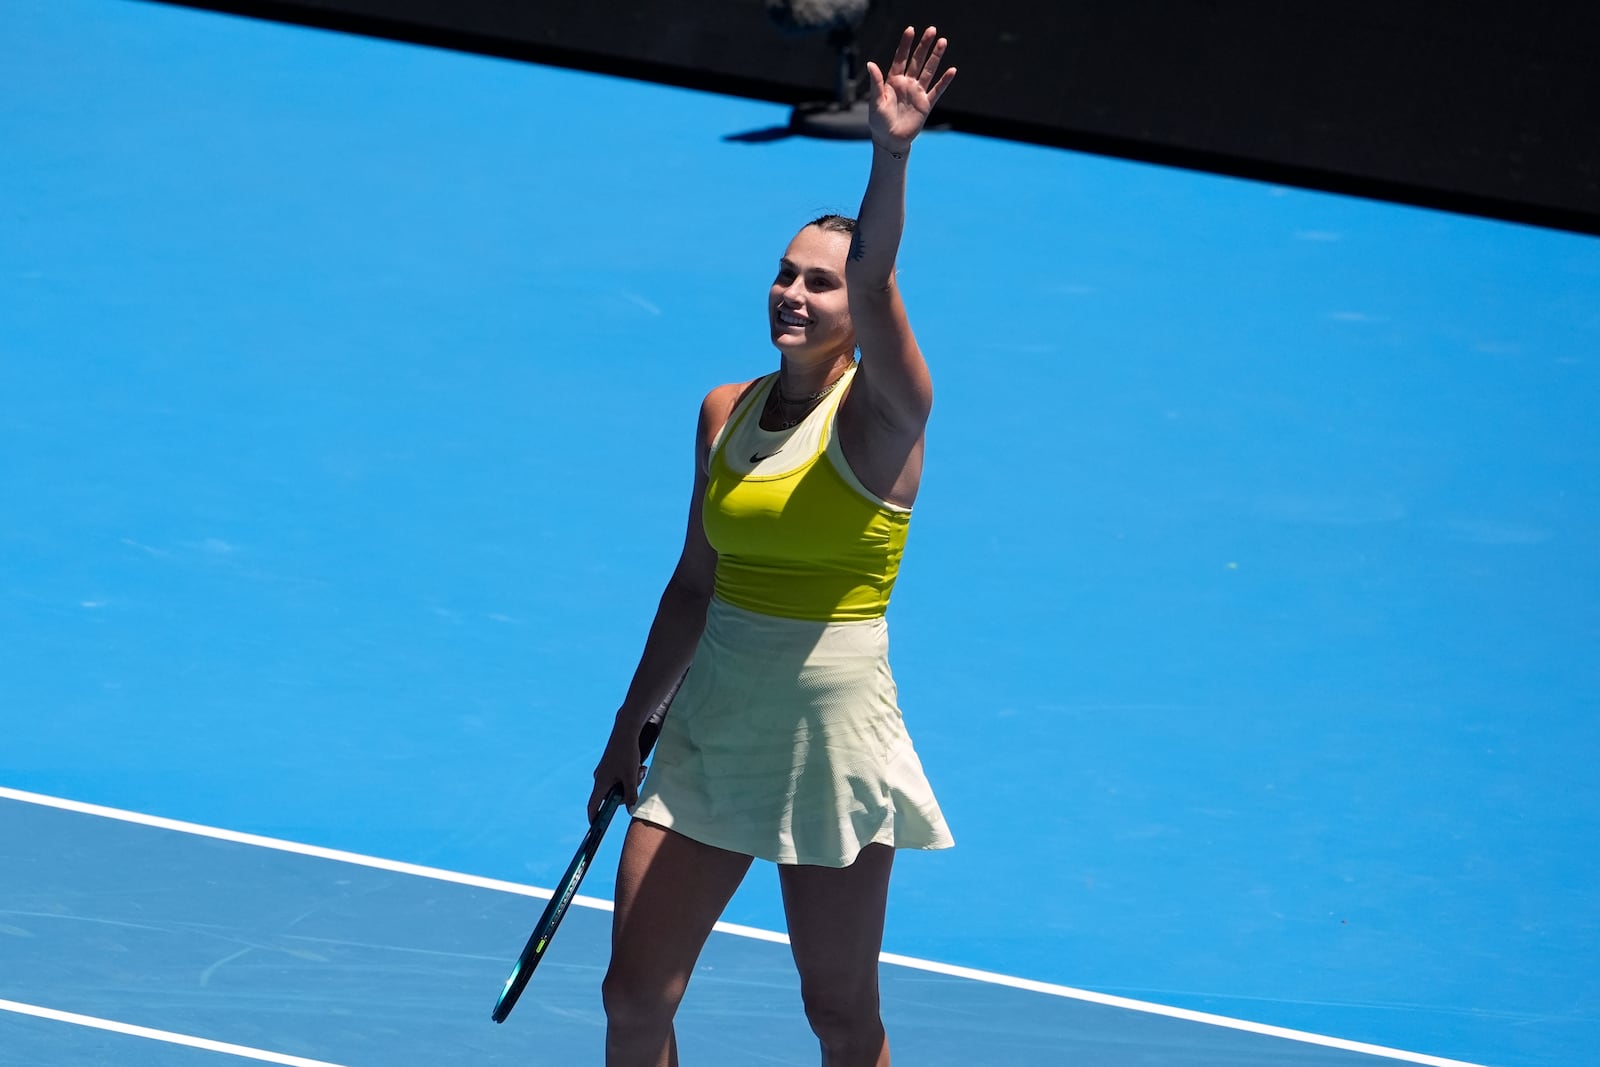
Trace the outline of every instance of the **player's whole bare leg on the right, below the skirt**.
[[850, 867], [781, 865], [800, 995], [822, 1067], [888, 1067], [878, 1017], [878, 952], [894, 849], [867, 845]]

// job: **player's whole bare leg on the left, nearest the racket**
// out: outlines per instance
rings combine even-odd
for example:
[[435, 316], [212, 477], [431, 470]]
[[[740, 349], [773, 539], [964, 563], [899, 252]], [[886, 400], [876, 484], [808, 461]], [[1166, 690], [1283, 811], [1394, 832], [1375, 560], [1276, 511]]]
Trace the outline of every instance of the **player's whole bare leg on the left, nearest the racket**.
[[677, 1067], [672, 1016], [750, 857], [634, 819], [616, 870], [606, 1067]]

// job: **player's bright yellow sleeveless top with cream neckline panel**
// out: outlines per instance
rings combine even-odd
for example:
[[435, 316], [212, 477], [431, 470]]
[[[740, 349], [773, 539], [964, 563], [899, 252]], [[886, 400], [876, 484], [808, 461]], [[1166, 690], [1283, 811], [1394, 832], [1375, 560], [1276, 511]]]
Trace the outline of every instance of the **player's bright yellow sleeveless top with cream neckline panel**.
[[712, 443], [706, 537], [717, 597], [786, 619], [877, 619], [906, 550], [910, 509], [856, 478], [834, 432], [854, 368], [805, 421], [763, 430], [778, 374], [757, 382]]

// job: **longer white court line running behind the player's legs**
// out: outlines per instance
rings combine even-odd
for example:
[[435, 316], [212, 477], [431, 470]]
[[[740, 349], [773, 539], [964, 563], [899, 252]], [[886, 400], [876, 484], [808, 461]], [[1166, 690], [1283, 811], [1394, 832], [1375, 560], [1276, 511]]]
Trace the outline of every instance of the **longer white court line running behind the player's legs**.
[[[362, 856], [360, 853], [346, 853], [336, 848], [322, 848], [320, 845], [301, 845], [299, 841], [285, 841], [275, 837], [261, 837], [258, 833], [240, 833], [238, 830], [222, 830], [218, 827], [200, 825], [198, 822], [182, 822], [179, 819], [163, 819], [160, 816], [147, 816], [138, 811], [104, 808], [101, 805], [88, 805], [80, 800], [46, 797], [43, 793], [30, 793], [21, 789], [8, 789], [5, 785], [0, 785], [0, 800], [16, 800], [26, 805], [59, 808], [62, 811], [75, 811], [78, 814], [101, 816], [104, 819], [118, 819], [122, 822], [136, 822], [139, 825], [158, 827], [162, 830], [178, 830], [179, 833], [210, 837], [219, 841], [235, 841], [238, 845], [254, 845], [258, 848], [275, 848], [283, 853], [296, 853], [299, 856], [315, 856], [318, 859], [333, 859], [341, 864], [357, 864], [360, 867], [376, 867], [378, 870], [392, 870], [402, 875], [416, 875], [419, 878], [437, 878], [438, 881], [453, 881], [456, 885], [475, 886], [480, 889], [498, 889], [501, 893], [515, 893], [518, 896], [533, 896], [546, 901], [550, 897], [550, 889], [525, 886], [515, 881], [501, 881], [499, 878], [482, 878], [478, 875], [464, 875], [456, 870], [443, 870], [442, 867], [421, 867], [418, 864], [403, 864], [395, 859]], [[602, 901], [592, 896], [574, 896], [573, 904], [605, 912], [613, 910], [611, 901]], [[757, 941], [789, 944], [789, 937], [786, 934], [771, 929], [741, 926], [738, 923], [717, 923], [717, 929], [725, 934], [734, 934], [739, 937], [754, 937]], [[1072, 989], [1070, 985], [1035, 982], [1034, 979], [1027, 977], [1013, 977], [1010, 974], [997, 974], [994, 971], [979, 971], [968, 966], [957, 966], [954, 963], [936, 963], [933, 960], [918, 960], [917, 957], [902, 957], [894, 952], [883, 952], [878, 955], [878, 958], [883, 963], [890, 963], [893, 966], [904, 966], [915, 971], [931, 971], [934, 974], [947, 974], [950, 977], [962, 977], [973, 982], [1005, 985], [1010, 989], [1021, 989], [1030, 993], [1043, 993], [1046, 997], [1062, 997], [1066, 1000], [1080, 1000], [1091, 1005], [1122, 1008], [1123, 1011], [1139, 1011], [1144, 1014], [1163, 1016], [1168, 1019], [1182, 1019], [1186, 1022], [1198, 1022], [1203, 1025], [1222, 1027], [1227, 1030], [1243, 1030], [1245, 1033], [1259, 1033], [1262, 1037], [1274, 1037], [1285, 1041], [1299, 1041], [1302, 1045], [1320, 1045], [1323, 1048], [1336, 1048], [1349, 1053], [1363, 1053], [1366, 1056], [1381, 1056], [1384, 1059], [1395, 1059], [1408, 1064], [1424, 1064], [1424, 1067], [1483, 1067], [1483, 1064], [1470, 1064], [1462, 1059], [1445, 1059], [1442, 1056], [1427, 1056], [1426, 1053], [1408, 1053], [1405, 1049], [1386, 1048], [1382, 1045], [1347, 1041], [1338, 1037], [1326, 1037], [1322, 1033], [1310, 1033], [1306, 1030], [1290, 1030], [1285, 1027], [1267, 1025], [1266, 1022], [1250, 1022], [1248, 1019], [1232, 1019], [1229, 1016], [1216, 1016], [1206, 1011], [1171, 1008], [1168, 1005], [1157, 1005], [1146, 1000], [1130, 1000], [1128, 997], [1112, 997], [1109, 993], [1096, 993], [1086, 989]], [[0, 1005], [10, 1001], [0, 1001]], [[275, 1061], [275, 1062], [312, 1064], [312, 1061], [293, 1061], [293, 1059]]]

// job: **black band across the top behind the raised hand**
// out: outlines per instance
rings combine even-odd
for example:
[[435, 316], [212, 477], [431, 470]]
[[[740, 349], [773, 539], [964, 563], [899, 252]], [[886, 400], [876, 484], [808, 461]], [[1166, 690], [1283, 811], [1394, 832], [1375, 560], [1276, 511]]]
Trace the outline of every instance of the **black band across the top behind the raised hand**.
[[[781, 102], [832, 51], [762, 0], [179, 0]], [[936, 22], [952, 128], [1600, 234], [1600, 3], [877, 0]], [[549, 106], [558, 107], [558, 101]]]

